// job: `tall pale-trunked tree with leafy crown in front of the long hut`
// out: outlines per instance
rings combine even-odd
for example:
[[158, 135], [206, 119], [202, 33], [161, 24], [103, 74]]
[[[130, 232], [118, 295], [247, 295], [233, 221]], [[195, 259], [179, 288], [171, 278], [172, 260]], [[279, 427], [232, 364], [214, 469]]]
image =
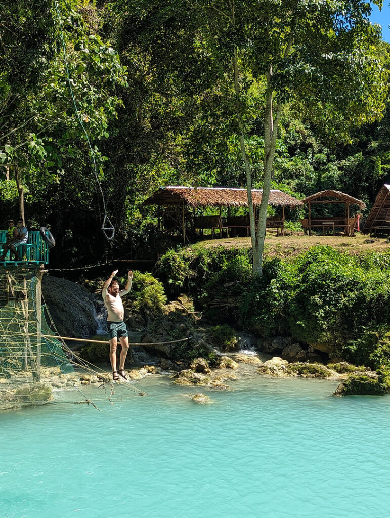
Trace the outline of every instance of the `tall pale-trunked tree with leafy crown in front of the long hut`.
[[[117, 0], [127, 33], [148, 45], [154, 66], [169, 86], [175, 78], [199, 95], [212, 82], [224, 85], [235, 116], [247, 178], [253, 270], [262, 274], [272, 168], [282, 109], [299, 104], [306, 118], [335, 139], [351, 127], [381, 117], [386, 72], [373, 44], [380, 28], [369, 22], [381, 0]], [[195, 74], [194, 74], [195, 72]], [[157, 72], [158, 74], [158, 72]], [[196, 76], [196, 77], [194, 77]], [[256, 83], [254, 93], [253, 84]], [[254, 102], [254, 98], [257, 102]], [[262, 204], [256, 231], [251, 197], [253, 163], [248, 136], [263, 119]], [[257, 179], [258, 180], [258, 179]]]

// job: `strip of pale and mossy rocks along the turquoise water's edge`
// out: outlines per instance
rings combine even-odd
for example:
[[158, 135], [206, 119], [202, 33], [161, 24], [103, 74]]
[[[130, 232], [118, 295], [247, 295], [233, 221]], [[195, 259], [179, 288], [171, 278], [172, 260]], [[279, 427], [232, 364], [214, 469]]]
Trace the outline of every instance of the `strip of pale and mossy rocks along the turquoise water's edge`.
[[[247, 376], [267, 376], [273, 378], [314, 378], [340, 381], [334, 395], [371, 394], [382, 395], [389, 392], [383, 377], [377, 372], [362, 371], [346, 362], [333, 364], [331, 368], [319, 363], [288, 362], [275, 356], [265, 361], [257, 354], [233, 353], [221, 356], [218, 368], [211, 368], [205, 358], [195, 358], [189, 364], [182, 361], [160, 359], [158, 365], [142, 365], [126, 370], [129, 382], [140, 380], [145, 376], [164, 375], [171, 378], [176, 385], [206, 387], [208, 390], [234, 390], [234, 383]], [[26, 382], [28, 381], [28, 382]], [[43, 405], [54, 402], [53, 390], [82, 389], [85, 386], [99, 388], [126, 383], [125, 380], [113, 382], [111, 373], [105, 371], [62, 374], [57, 367], [42, 367], [41, 381], [34, 384], [24, 373], [8, 379], [0, 378], [0, 410], [15, 409], [22, 406]], [[128, 382], [127, 382], [128, 383]], [[91, 400], [93, 401], [93, 399]], [[202, 394], [194, 394], [194, 401], [208, 404], [211, 399]], [[76, 402], [76, 401], [75, 401]], [[79, 402], [88, 402], [79, 401]]]

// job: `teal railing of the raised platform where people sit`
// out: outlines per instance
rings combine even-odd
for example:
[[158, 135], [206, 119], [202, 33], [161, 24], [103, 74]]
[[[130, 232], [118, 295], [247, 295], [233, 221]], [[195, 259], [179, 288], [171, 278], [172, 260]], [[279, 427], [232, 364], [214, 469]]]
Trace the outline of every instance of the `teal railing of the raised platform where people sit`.
[[[46, 233], [47, 234], [47, 233]], [[7, 241], [7, 231], [0, 230], [0, 254], [3, 253], [4, 244]], [[12, 261], [8, 252], [5, 260], [0, 259], [0, 264], [47, 264], [49, 262], [49, 248], [47, 243], [42, 239], [41, 233], [37, 231], [28, 231], [28, 239], [24, 244], [17, 247], [20, 261]]]

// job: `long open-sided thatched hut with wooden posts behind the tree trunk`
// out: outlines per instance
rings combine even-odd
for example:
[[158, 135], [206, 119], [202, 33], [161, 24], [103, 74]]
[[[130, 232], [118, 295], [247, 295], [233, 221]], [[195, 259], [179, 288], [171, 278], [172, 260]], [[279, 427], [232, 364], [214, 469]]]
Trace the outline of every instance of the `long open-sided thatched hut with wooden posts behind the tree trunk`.
[[[262, 195], [262, 189], [252, 189], [252, 199], [255, 213], [257, 207], [261, 204]], [[268, 203], [273, 207], [282, 207], [283, 215], [281, 222], [276, 222], [275, 220], [273, 221], [273, 223], [280, 224], [272, 224], [271, 226], [273, 228], [277, 228], [278, 230], [280, 227], [284, 235], [284, 208], [296, 208], [301, 206], [302, 202], [296, 198], [293, 198], [293, 196], [290, 196], [290, 194], [284, 193], [277, 189], [271, 189]], [[222, 228], [227, 228], [227, 226], [222, 225], [221, 221], [222, 207], [227, 207], [228, 210], [233, 207], [248, 207], [248, 195], [246, 189], [227, 187], [185, 187], [182, 185], [169, 185], [166, 187], [161, 187], [155, 191], [155, 193], [150, 196], [150, 198], [143, 202], [143, 205], [158, 205], [164, 207], [176, 206], [181, 208], [181, 228], [183, 233], [183, 242], [185, 243], [185, 241], [188, 240], [185, 233], [186, 207], [192, 209], [193, 221], [195, 221], [195, 209], [202, 207], [218, 207], [220, 216], [219, 223], [216, 225], [215, 221], [213, 221], [213, 227], [210, 227], [214, 233], [216, 228], [219, 228], [220, 231], [222, 231]], [[228, 225], [228, 227], [245, 227], [247, 228], [247, 234], [249, 233], [249, 225], [247, 224]]]

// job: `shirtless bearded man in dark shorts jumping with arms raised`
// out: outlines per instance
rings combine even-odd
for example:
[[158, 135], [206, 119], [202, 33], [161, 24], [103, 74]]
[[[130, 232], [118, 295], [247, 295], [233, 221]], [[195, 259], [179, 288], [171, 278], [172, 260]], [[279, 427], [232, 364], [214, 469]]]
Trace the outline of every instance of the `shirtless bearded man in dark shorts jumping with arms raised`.
[[[112, 379], [119, 380], [122, 376], [127, 380], [124, 370], [126, 355], [128, 351], [128, 336], [126, 324], [123, 322], [124, 309], [122, 304], [123, 295], [131, 290], [133, 281], [133, 272], [130, 270], [127, 274], [127, 284], [124, 290], [119, 291], [118, 281], [113, 280], [118, 270], [112, 272], [110, 277], [103, 286], [103, 300], [108, 311], [107, 316], [107, 335], [110, 340], [110, 362], [112, 367]], [[121, 342], [122, 351], [119, 361], [119, 369], [117, 370], [117, 338]]]

